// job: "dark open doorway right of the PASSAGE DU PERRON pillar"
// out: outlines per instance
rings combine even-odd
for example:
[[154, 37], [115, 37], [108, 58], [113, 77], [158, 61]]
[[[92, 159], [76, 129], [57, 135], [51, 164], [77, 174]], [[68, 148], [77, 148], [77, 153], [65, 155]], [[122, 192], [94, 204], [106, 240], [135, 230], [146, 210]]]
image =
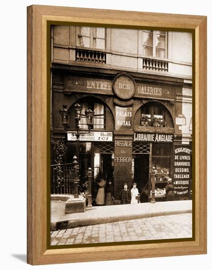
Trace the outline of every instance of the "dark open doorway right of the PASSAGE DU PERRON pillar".
[[[134, 155], [134, 182], [137, 183], [137, 188], [141, 194], [142, 190], [148, 189], [149, 181], [149, 155], [137, 154]], [[145, 192], [141, 195], [141, 202], [148, 201], [148, 194]]]

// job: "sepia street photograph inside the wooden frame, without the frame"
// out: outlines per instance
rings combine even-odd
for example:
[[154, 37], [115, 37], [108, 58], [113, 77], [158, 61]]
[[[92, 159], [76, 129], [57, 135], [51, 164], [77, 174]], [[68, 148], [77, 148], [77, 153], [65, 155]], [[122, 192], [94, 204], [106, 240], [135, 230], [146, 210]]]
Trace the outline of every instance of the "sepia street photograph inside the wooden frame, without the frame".
[[50, 245], [192, 239], [192, 33], [50, 35]]

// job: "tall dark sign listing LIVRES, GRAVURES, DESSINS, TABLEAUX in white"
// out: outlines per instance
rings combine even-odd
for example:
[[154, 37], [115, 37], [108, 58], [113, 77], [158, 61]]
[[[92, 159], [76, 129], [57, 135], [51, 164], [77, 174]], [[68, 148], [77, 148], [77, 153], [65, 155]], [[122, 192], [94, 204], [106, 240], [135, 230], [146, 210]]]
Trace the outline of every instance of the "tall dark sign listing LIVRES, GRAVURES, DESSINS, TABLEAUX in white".
[[189, 195], [191, 158], [192, 151], [190, 146], [174, 145], [172, 180], [175, 196], [184, 197]]

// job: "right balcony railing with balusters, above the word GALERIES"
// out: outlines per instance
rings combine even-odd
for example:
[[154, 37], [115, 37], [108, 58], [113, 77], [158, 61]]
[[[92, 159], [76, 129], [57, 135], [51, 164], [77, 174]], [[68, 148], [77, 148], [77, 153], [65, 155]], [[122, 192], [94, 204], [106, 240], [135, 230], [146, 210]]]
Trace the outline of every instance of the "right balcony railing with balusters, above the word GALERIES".
[[143, 69], [168, 72], [168, 62], [151, 58], [143, 58]]

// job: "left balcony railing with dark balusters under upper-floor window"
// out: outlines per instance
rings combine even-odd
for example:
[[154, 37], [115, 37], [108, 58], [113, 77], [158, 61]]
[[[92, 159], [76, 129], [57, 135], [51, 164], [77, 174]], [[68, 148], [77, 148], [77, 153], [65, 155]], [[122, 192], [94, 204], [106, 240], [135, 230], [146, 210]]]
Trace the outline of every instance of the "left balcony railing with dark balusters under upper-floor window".
[[106, 64], [106, 54], [93, 50], [76, 50], [76, 61]]

